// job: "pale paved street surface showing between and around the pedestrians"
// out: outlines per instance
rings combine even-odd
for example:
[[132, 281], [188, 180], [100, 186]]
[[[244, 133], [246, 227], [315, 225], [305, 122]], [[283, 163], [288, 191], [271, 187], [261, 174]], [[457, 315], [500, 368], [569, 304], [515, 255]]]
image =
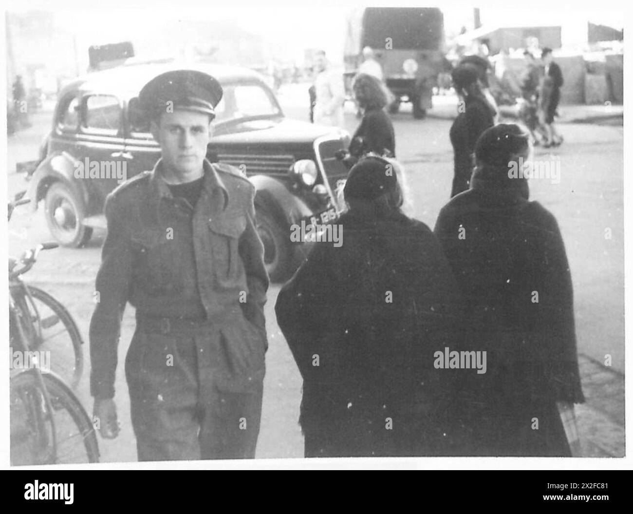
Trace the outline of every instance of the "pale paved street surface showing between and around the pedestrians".
[[[304, 98], [305, 97], [305, 98]], [[308, 95], [301, 87], [282, 89], [279, 95], [287, 116], [305, 119]], [[442, 99], [439, 99], [442, 101]], [[406, 107], [404, 108], [406, 110]], [[448, 201], [452, 180], [452, 151], [448, 139], [450, 120], [430, 117], [413, 120], [410, 112], [393, 116], [396, 152], [406, 166], [410, 191], [406, 211], [434, 226], [437, 213]], [[25, 188], [15, 163], [31, 160], [51, 123], [50, 113], [32, 115], [33, 127], [9, 137], [8, 191]], [[357, 120], [348, 106], [346, 128], [353, 132]], [[532, 180], [533, 199], [551, 210], [561, 227], [572, 270], [579, 352], [603, 362], [610, 354], [613, 368], [624, 372], [624, 227], [623, 227], [623, 129], [605, 125], [562, 125], [565, 144], [555, 151], [538, 150], [535, 159], [560, 160], [560, 183]], [[611, 229], [611, 239], [605, 239]], [[39, 209], [15, 212], [9, 228], [9, 251], [18, 254], [32, 244], [50, 239]], [[92, 292], [103, 237], [97, 235], [87, 248], [58, 248], [42, 253], [28, 279], [60, 299], [87, 335], [94, 304]], [[303, 437], [297, 425], [301, 378], [284, 337], [275, 322], [273, 306], [279, 286], [270, 290], [266, 320], [270, 349], [266, 356], [263, 419], [258, 457], [301, 457]], [[134, 313], [128, 308], [123, 323], [120, 362], [134, 329]], [[87, 345], [85, 346], [87, 356]], [[78, 387], [86, 406], [91, 406], [87, 371]], [[104, 461], [135, 460], [134, 435], [129, 420], [127, 387], [123, 368], [116, 387], [122, 434], [115, 441], [100, 440]]]

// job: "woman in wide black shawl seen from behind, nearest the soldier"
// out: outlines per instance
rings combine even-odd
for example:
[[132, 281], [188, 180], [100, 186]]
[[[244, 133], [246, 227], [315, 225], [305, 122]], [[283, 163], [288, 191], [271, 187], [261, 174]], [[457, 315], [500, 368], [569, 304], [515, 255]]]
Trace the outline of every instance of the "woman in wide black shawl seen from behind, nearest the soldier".
[[[394, 163], [394, 164], [391, 164]], [[400, 210], [395, 161], [353, 166], [336, 248], [316, 248], [282, 287], [275, 312], [303, 377], [305, 455], [446, 452], [452, 380], [434, 368], [461, 319], [435, 236]]]

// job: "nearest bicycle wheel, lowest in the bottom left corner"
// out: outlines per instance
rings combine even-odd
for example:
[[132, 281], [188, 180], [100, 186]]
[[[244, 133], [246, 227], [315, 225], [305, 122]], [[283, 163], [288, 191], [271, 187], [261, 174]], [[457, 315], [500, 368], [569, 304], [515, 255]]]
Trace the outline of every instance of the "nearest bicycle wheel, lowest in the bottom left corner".
[[11, 465], [99, 461], [96, 432], [70, 387], [53, 373], [11, 379]]

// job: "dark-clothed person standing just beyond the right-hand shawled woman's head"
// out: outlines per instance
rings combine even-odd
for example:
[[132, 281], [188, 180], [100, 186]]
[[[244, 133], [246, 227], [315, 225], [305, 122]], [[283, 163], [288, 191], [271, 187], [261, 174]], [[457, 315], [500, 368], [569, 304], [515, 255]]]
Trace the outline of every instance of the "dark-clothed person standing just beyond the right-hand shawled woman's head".
[[479, 84], [479, 70], [472, 64], [453, 70], [453, 85], [460, 96], [459, 114], [449, 135], [454, 153], [454, 177], [451, 198], [468, 189], [473, 171], [475, 142], [484, 130], [494, 125], [494, 109], [486, 101]]

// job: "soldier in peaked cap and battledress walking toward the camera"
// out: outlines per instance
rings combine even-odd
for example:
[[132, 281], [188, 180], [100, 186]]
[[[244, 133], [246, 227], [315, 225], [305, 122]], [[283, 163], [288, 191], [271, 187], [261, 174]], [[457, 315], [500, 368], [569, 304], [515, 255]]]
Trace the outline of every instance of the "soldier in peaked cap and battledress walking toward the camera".
[[206, 160], [215, 78], [163, 73], [143, 87], [161, 158], [106, 199], [108, 236], [90, 327], [94, 415], [116, 437], [116, 349], [136, 309], [125, 359], [139, 460], [253, 458], [260, 428], [268, 275], [254, 187]]

